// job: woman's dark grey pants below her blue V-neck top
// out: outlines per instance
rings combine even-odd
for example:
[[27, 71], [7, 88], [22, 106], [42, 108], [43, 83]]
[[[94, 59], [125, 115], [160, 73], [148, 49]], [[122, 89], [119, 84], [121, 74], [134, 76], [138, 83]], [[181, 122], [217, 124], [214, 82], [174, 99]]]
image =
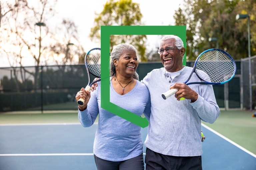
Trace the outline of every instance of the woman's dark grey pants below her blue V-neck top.
[[124, 161], [107, 161], [94, 155], [98, 170], [144, 170], [143, 154]]

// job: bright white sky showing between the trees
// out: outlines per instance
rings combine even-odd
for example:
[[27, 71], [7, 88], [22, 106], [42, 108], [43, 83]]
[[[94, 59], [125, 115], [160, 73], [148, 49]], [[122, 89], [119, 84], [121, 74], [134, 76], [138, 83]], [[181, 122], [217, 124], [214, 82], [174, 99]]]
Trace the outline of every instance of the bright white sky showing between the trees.
[[[179, 8], [182, 1], [174, 0], [132, 0], [140, 6], [142, 13], [142, 22], [146, 26], [165, 26], [174, 25], [173, 15], [175, 10]], [[92, 42], [89, 38], [90, 30], [94, 26], [94, 18], [96, 13], [103, 10], [104, 4], [107, 0], [58, 0], [55, 10], [57, 14], [49, 21], [47, 25], [54, 23], [61, 23], [62, 18], [71, 19], [75, 22], [78, 29], [79, 41], [84, 47], [85, 51], [92, 48], [100, 47], [100, 44]], [[157, 36], [147, 36], [147, 49], [151, 50], [153, 47], [158, 46], [160, 40]], [[2, 59], [1, 59], [2, 60]], [[33, 66], [33, 59], [26, 59], [23, 66]], [[0, 67], [9, 67], [6, 58], [0, 62]]]

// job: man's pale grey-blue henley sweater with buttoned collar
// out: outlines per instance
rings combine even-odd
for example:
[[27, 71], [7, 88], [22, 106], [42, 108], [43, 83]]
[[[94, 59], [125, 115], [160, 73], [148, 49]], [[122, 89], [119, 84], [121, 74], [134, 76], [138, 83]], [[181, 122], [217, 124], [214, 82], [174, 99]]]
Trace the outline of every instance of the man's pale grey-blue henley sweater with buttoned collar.
[[[170, 96], [164, 100], [162, 93], [174, 83], [185, 82], [192, 71], [185, 67], [173, 80], [164, 68], [154, 69], [142, 80], [151, 97], [151, 115], [145, 145], [149, 149], [172, 156], [202, 155], [201, 120], [214, 123], [220, 114], [212, 85], [189, 85], [198, 94], [194, 103]], [[201, 81], [193, 75], [189, 82]]]

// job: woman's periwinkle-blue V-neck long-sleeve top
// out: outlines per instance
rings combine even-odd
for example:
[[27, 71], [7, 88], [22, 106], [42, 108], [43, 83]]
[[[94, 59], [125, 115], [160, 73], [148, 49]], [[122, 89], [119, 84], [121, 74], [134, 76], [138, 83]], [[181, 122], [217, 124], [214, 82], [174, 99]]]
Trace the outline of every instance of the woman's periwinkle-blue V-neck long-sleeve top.
[[[120, 118], [101, 108], [101, 83], [91, 92], [91, 98], [84, 111], [78, 110], [78, 118], [84, 127], [93, 125], [99, 115], [95, 134], [94, 154], [109, 161], [123, 161], [140, 155], [143, 152], [141, 127]], [[128, 93], [120, 95], [115, 92], [110, 81], [110, 102], [136, 115], [143, 113], [150, 117], [150, 95], [147, 87], [137, 80], [135, 87]]]

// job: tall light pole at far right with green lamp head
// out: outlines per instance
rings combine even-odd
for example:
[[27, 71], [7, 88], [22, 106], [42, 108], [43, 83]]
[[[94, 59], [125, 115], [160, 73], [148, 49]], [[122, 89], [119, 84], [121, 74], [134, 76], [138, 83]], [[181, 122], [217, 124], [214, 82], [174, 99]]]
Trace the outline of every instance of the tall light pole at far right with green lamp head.
[[249, 93], [250, 93], [250, 111], [252, 110], [252, 75], [251, 75], [251, 43], [250, 43], [250, 16], [237, 14], [236, 20], [248, 18], [248, 60], [249, 60]]

